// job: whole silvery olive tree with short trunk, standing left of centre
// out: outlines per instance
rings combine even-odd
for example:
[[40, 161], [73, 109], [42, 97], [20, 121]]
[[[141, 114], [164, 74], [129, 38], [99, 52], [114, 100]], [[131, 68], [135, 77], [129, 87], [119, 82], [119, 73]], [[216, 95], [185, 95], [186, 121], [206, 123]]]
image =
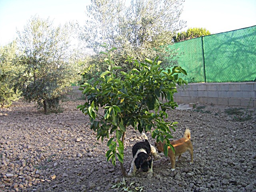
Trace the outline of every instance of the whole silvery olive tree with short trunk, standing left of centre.
[[78, 67], [71, 59], [72, 28], [68, 24], [55, 27], [49, 18], [34, 16], [17, 33], [20, 65], [24, 68], [22, 95], [45, 113], [58, 109], [71, 83], [79, 79]]

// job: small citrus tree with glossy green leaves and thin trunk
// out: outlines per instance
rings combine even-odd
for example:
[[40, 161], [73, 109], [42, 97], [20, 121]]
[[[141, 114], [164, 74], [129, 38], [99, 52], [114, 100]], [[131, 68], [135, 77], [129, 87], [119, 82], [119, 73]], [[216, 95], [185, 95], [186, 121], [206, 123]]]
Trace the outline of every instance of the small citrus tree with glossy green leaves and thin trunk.
[[[106, 44], [104, 62], [108, 64], [108, 70], [100, 75], [94, 84], [84, 83], [80, 86], [88, 102], [78, 105], [82, 113], [89, 115], [90, 128], [97, 132], [97, 139], [103, 141], [108, 138], [106, 152], [107, 160], [116, 165], [118, 158], [122, 174], [126, 176], [123, 167], [124, 138], [128, 126], [132, 126], [140, 133], [151, 132], [157, 141], [166, 141], [164, 154], [167, 156], [171, 146], [169, 138], [172, 138], [171, 129], [175, 130], [177, 122], [166, 122], [168, 117], [166, 110], [174, 109], [177, 105], [173, 100], [173, 94], [177, 92], [176, 84], [187, 84], [178, 74], [186, 74], [180, 66], [174, 66], [172, 70], [163, 71], [160, 68], [161, 61], [146, 58], [144, 62], [129, 60], [133, 69], [129, 72], [121, 71], [111, 58], [111, 52]], [[117, 73], [121, 76], [117, 78]], [[102, 110], [104, 114], [101, 114]]]

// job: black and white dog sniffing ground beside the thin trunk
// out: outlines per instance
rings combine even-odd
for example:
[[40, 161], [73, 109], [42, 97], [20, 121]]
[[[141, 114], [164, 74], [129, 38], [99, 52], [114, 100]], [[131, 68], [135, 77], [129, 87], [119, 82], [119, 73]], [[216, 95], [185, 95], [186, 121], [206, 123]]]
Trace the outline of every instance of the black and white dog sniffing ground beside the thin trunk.
[[128, 173], [128, 176], [134, 176], [139, 170], [139, 168], [143, 172], [149, 172], [152, 173], [153, 170], [153, 160], [152, 156], [154, 158], [159, 158], [160, 156], [156, 153], [156, 148], [154, 146], [150, 145], [148, 142], [148, 137], [146, 134], [142, 134], [145, 141], [138, 142], [132, 147], [132, 164], [130, 171]]

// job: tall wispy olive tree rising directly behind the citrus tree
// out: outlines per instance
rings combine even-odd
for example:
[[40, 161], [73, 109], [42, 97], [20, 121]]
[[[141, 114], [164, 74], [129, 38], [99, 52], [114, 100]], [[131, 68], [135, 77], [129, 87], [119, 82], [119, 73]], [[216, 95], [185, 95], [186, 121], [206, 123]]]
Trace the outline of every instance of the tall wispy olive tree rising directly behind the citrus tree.
[[132, 69], [127, 57], [143, 61], [159, 56], [162, 67], [174, 66], [178, 53], [169, 44], [185, 26], [180, 20], [183, 0], [91, 0], [87, 6], [88, 20], [81, 28], [80, 38], [95, 53], [106, 42], [116, 47], [116, 64], [124, 71]]

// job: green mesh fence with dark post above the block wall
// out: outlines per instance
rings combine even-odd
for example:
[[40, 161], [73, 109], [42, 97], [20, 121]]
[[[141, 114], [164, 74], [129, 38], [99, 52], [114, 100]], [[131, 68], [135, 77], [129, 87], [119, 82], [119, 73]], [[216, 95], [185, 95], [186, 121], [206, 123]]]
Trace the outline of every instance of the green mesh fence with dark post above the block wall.
[[256, 26], [194, 38], [171, 45], [180, 55], [188, 82], [256, 80]]

